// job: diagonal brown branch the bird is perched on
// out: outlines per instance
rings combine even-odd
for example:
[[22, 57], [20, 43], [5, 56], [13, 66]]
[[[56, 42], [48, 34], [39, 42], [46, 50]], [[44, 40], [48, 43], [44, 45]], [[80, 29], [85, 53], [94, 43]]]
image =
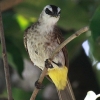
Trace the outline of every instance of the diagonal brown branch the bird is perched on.
[[[62, 42], [55, 50], [54, 52], [52, 53], [52, 55], [50, 56], [50, 61], [53, 60], [54, 56], [66, 45], [68, 44], [70, 41], [72, 41], [73, 39], [75, 39], [76, 37], [78, 37], [79, 35], [81, 35], [82, 33], [86, 32], [89, 30], [89, 27], [86, 26], [80, 30], [78, 30], [77, 32], [75, 32], [73, 35], [71, 35], [69, 38], [67, 38], [64, 42]], [[40, 78], [38, 80], [39, 83], [42, 83], [45, 75], [47, 73], [47, 68], [44, 67], [44, 70], [42, 71], [41, 75], [40, 75]], [[39, 89], [35, 88], [34, 91], [33, 91], [33, 94], [31, 96], [31, 99], [30, 100], [35, 100], [35, 97], [38, 93]]]

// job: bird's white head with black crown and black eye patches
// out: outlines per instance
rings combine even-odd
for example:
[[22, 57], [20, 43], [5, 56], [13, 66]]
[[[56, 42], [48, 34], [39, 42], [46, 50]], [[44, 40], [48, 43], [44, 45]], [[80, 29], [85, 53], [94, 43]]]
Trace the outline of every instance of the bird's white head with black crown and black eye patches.
[[61, 9], [54, 5], [47, 5], [44, 7], [42, 13], [40, 14], [40, 21], [48, 24], [56, 24], [60, 18]]

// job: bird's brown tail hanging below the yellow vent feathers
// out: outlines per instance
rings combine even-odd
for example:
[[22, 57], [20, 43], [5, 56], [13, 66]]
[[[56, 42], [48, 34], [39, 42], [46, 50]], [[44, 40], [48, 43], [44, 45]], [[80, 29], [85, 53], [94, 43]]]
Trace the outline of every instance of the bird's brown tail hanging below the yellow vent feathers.
[[64, 90], [58, 91], [58, 96], [59, 100], [75, 100], [75, 96], [70, 85], [69, 79], [66, 88]]

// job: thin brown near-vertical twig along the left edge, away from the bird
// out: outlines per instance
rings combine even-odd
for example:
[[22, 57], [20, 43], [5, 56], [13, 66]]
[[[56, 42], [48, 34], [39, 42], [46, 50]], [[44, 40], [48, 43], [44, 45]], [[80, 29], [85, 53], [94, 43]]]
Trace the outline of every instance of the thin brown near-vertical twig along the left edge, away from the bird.
[[12, 92], [11, 92], [11, 82], [10, 82], [9, 67], [8, 67], [8, 61], [7, 61], [7, 52], [6, 52], [4, 31], [3, 31], [1, 9], [0, 9], [0, 38], [1, 38], [2, 57], [3, 57], [3, 63], [4, 63], [6, 87], [7, 87], [7, 92], [8, 92], [8, 100], [13, 100]]

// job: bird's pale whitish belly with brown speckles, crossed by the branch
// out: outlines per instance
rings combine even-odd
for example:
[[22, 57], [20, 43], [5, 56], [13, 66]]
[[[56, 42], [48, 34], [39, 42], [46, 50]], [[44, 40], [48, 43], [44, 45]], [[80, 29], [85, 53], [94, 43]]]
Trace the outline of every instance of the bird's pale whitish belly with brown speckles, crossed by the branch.
[[[50, 55], [58, 45], [59, 44], [56, 42], [56, 40], [54, 42], [49, 42], [48, 39], [40, 35], [32, 37], [30, 36], [30, 38], [27, 39], [27, 48], [30, 59], [34, 65], [38, 66], [42, 70], [45, 66], [45, 60], [50, 58]], [[60, 51], [54, 57], [53, 61], [65, 65], [63, 52]], [[53, 67], [56, 66], [57, 65], [53, 64]]]

